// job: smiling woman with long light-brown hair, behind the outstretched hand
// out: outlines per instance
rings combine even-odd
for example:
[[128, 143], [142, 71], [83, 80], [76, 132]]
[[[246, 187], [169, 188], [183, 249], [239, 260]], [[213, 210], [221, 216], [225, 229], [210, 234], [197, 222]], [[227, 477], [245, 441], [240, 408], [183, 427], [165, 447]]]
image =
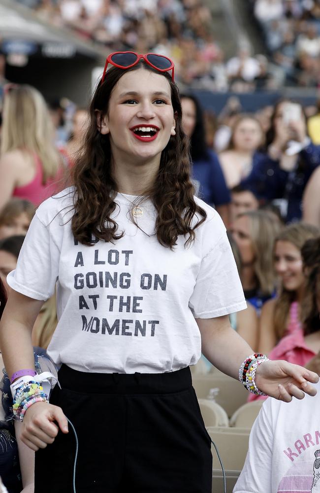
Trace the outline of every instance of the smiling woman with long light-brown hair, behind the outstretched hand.
[[317, 227], [300, 222], [290, 224], [276, 237], [273, 252], [274, 269], [280, 281], [279, 295], [262, 308], [259, 351], [269, 354], [284, 336], [293, 332], [303, 337], [301, 303], [306, 291], [301, 248], [307, 240], [318, 236]]

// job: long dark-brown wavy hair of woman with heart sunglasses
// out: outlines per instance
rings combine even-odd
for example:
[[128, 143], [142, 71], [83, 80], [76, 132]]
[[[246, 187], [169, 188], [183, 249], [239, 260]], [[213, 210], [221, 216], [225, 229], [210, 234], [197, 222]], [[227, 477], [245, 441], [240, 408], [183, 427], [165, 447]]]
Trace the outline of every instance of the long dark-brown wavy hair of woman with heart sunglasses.
[[[142, 61], [127, 70], [112, 67], [103, 84], [98, 84], [92, 99], [83, 152], [72, 173], [75, 191], [71, 227], [75, 239], [84, 245], [93, 245], [92, 234], [105, 242], [114, 242], [124, 236], [124, 232], [118, 231], [118, 224], [111, 217], [116, 208], [114, 199], [117, 183], [111, 173], [109, 135], [99, 132], [97, 113], [107, 113], [112, 90], [122, 75], [139, 68], [160, 73]], [[143, 193], [141, 200], [146, 196], [152, 200], [158, 212], [155, 228], [158, 241], [162, 246], [173, 248], [179, 235], [185, 236], [185, 246], [190, 245], [195, 237], [195, 229], [206, 219], [207, 214], [193, 198], [189, 140], [182, 130], [179, 91], [167, 72], [162, 75], [171, 88], [176, 135], [170, 137], [163, 149], [154, 185]], [[132, 220], [134, 221], [133, 218]]]

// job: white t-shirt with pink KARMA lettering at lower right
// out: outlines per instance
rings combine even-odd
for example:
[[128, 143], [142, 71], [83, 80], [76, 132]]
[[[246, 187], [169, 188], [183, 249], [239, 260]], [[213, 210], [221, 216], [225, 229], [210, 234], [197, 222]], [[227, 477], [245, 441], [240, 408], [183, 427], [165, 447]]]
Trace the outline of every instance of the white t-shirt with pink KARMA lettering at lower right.
[[320, 383], [315, 397], [268, 397], [251, 430], [233, 493], [320, 492]]

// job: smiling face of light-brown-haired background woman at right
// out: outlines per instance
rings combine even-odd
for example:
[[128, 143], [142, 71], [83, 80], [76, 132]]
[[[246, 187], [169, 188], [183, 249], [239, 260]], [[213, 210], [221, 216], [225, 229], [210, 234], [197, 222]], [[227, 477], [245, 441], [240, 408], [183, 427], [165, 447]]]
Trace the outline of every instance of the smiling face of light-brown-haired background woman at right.
[[292, 243], [282, 240], [276, 242], [274, 267], [288, 291], [295, 291], [304, 284], [301, 253]]

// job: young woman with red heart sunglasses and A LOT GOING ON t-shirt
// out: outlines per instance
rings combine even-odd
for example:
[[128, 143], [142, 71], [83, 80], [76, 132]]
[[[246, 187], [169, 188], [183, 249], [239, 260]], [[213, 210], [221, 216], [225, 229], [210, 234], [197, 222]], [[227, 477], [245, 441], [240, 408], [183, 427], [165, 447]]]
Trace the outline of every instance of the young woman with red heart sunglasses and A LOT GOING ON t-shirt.
[[[72, 490], [66, 418], [79, 439], [78, 493], [211, 493], [211, 441], [189, 365], [202, 345], [238, 378], [252, 349], [229, 324], [246, 304], [224, 225], [193, 197], [181, 120], [170, 60], [109, 55], [74, 187], [38, 208], [8, 276], [0, 342], [10, 374], [32, 368], [32, 325], [58, 289], [48, 352], [62, 364], [61, 388], [50, 404], [16, 402], [37, 451], [35, 493]], [[256, 370], [256, 385], [286, 401], [314, 394], [311, 381], [318, 376], [284, 362]]]

